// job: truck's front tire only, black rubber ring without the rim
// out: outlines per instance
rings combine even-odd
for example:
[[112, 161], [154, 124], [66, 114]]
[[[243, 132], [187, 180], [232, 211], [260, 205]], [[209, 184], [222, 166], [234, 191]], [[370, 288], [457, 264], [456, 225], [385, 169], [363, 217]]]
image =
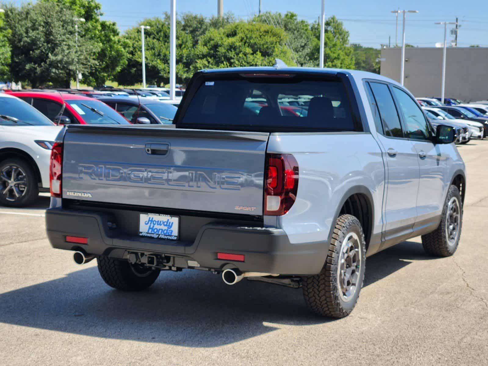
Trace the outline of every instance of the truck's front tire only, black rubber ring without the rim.
[[[459, 207], [459, 228], [457, 230], [457, 236], [454, 242], [449, 242], [447, 240], [448, 236], [448, 210], [449, 203], [451, 200], [457, 200]], [[461, 199], [461, 194], [459, 193], [458, 187], [451, 185], [449, 191], [447, 192], [446, 202], [444, 203], [444, 208], [442, 209], [441, 222], [437, 228], [426, 234], [422, 235], [422, 245], [424, 250], [436, 257], [449, 257], [454, 254], [458, 245], [459, 239], [461, 238], [461, 228], [463, 226], [463, 201]]]

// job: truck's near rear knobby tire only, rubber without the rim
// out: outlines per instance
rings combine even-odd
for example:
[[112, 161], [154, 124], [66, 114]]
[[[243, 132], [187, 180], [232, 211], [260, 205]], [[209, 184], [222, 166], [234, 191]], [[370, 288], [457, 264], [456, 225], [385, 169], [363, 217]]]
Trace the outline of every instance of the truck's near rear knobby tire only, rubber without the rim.
[[[343, 299], [339, 285], [338, 271], [342, 244], [350, 233], [359, 239], [360, 259], [355, 292], [347, 301]], [[359, 249], [359, 248], [358, 248]], [[366, 240], [359, 220], [352, 215], [341, 215], [337, 219], [322, 271], [302, 279], [305, 303], [315, 313], [332, 318], [344, 318], [356, 305], [363, 286], [366, 264]]]

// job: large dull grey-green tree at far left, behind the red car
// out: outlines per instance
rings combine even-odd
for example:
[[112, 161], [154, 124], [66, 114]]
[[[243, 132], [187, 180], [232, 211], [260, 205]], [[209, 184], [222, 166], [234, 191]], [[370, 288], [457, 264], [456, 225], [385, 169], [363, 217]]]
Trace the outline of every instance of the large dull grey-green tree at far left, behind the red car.
[[[69, 86], [76, 70], [90, 70], [89, 41], [75, 44], [74, 14], [66, 7], [45, 2], [9, 8], [5, 22], [12, 33], [11, 75], [32, 87], [53, 83]], [[78, 66], [77, 66], [78, 63]]]

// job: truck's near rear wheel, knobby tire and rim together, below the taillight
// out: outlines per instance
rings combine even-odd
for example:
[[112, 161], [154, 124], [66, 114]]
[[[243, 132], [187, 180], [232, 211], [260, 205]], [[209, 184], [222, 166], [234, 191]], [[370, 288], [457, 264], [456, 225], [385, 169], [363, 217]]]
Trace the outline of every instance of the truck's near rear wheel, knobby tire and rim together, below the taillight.
[[322, 271], [302, 280], [305, 303], [315, 313], [344, 318], [354, 309], [363, 287], [366, 241], [359, 220], [341, 215], [334, 227]]

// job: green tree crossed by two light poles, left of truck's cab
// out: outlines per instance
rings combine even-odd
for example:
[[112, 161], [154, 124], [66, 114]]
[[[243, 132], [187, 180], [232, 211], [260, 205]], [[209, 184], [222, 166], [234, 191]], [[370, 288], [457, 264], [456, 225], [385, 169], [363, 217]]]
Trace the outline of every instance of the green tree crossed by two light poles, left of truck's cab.
[[[149, 25], [144, 30], [146, 81], [161, 85], [169, 82], [169, 17], [143, 20], [139, 25]], [[139, 26], [128, 29], [122, 37], [127, 42], [127, 64], [117, 76], [121, 85], [134, 85], [142, 80], [142, 43]], [[182, 22], [176, 22], [176, 80], [189, 80], [189, 53], [192, 38], [183, 32]]]

